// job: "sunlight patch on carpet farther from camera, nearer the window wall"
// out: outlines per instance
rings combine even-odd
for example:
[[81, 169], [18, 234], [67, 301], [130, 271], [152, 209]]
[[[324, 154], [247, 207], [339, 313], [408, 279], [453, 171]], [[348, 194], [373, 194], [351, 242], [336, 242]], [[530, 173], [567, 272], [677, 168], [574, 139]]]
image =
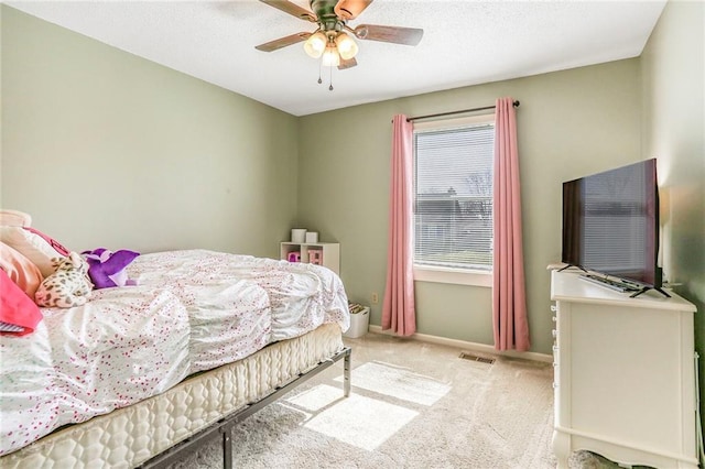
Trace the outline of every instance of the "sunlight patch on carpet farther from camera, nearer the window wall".
[[[343, 381], [343, 378], [337, 378]], [[451, 386], [433, 378], [380, 362], [368, 362], [352, 370], [350, 383], [379, 394], [422, 405], [433, 405]]]

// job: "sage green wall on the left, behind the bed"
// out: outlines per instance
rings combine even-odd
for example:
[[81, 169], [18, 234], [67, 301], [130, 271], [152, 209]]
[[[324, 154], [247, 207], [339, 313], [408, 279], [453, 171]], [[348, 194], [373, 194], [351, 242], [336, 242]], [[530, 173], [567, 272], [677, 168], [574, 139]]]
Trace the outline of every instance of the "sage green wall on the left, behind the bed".
[[3, 208], [80, 251], [279, 255], [296, 118], [2, 6]]

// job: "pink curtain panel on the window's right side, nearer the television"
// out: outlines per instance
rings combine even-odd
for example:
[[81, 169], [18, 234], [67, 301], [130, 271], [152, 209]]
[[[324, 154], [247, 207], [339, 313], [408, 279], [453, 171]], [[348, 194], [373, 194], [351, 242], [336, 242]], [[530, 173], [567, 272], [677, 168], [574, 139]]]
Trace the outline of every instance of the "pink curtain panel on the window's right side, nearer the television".
[[495, 114], [495, 263], [492, 321], [497, 350], [525, 351], [527, 323], [517, 113], [511, 98], [497, 100]]

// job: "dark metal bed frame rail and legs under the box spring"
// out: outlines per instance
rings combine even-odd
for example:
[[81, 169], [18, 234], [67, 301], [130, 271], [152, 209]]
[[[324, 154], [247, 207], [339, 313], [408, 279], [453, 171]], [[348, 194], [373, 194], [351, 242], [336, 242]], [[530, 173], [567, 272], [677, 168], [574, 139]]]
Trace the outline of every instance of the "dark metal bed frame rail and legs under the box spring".
[[316, 374], [321, 373], [323, 370], [328, 367], [335, 364], [340, 359], [344, 360], [343, 366], [343, 394], [347, 397], [350, 395], [350, 355], [352, 349], [350, 347], [345, 347], [343, 350], [334, 355], [327, 360], [319, 362], [312, 370], [300, 373], [292, 381], [278, 386], [270, 394], [265, 395], [261, 400], [248, 404], [245, 407], [239, 408], [238, 411], [224, 416], [221, 419], [212, 424], [210, 426], [204, 428], [198, 432], [194, 436], [186, 438], [185, 440], [178, 443], [177, 445], [171, 447], [166, 451], [153, 457], [149, 461], [138, 466], [140, 469], [156, 469], [156, 468], [166, 468], [170, 465], [182, 460], [186, 455], [192, 454], [205, 446], [209, 443], [216, 434], [220, 434], [223, 438], [223, 467], [224, 469], [232, 468], [232, 445], [230, 443], [231, 429], [240, 422], [260, 411], [264, 406], [271, 404], [272, 402], [278, 401], [284, 394], [292, 391], [294, 388], [300, 386], [304, 382], [308, 381]]

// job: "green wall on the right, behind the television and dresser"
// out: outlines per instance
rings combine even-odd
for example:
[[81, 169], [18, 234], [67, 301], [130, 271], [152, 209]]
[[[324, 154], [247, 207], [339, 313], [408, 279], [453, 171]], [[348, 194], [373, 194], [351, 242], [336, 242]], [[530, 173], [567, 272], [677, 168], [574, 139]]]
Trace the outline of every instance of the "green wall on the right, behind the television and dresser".
[[[697, 307], [705, 414], [705, 3], [666, 4], [641, 57], [643, 142], [659, 159], [663, 268]], [[705, 463], [705, 461], [703, 461]]]

